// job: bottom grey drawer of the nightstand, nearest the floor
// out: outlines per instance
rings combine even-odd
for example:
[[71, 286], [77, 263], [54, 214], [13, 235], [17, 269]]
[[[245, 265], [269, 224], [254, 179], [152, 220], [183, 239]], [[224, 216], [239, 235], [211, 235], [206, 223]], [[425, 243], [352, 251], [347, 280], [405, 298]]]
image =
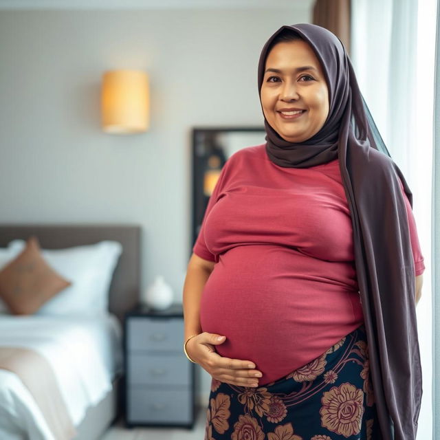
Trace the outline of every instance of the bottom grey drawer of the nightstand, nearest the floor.
[[127, 421], [129, 423], [190, 423], [190, 391], [158, 391], [128, 388]]

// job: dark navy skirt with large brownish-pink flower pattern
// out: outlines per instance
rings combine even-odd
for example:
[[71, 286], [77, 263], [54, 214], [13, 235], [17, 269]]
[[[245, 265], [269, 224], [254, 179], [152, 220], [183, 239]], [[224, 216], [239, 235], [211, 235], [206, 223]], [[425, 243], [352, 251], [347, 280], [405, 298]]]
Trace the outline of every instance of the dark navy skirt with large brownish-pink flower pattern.
[[205, 440], [381, 439], [362, 325], [261, 387], [212, 379]]

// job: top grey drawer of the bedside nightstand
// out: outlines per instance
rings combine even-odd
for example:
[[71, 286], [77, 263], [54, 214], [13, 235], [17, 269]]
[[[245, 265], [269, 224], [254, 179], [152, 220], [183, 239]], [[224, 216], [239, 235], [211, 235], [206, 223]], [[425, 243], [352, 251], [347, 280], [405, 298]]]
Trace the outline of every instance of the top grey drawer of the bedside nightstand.
[[133, 317], [128, 322], [129, 350], [183, 350], [184, 320]]

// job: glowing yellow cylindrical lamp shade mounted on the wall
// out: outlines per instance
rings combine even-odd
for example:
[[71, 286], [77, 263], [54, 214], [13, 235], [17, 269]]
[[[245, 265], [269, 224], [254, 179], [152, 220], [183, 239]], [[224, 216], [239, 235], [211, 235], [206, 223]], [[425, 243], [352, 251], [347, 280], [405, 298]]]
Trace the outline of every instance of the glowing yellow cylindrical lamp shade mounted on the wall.
[[111, 70], [102, 75], [102, 129], [141, 133], [148, 129], [148, 76], [139, 70]]

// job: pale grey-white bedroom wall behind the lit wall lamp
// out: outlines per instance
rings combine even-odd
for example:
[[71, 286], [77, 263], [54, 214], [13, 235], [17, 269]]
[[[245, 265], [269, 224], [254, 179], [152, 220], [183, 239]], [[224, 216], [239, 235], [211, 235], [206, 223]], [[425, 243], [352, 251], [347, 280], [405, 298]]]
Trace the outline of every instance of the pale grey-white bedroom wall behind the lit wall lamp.
[[[190, 129], [263, 124], [256, 68], [298, 2], [270, 10], [0, 10], [0, 223], [140, 223], [142, 286], [181, 301], [190, 254]], [[306, 4], [306, 3], [304, 3]], [[151, 129], [100, 130], [100, 76], [151, 76]], [[201, 397], [209, 376], [202, 373]]]

